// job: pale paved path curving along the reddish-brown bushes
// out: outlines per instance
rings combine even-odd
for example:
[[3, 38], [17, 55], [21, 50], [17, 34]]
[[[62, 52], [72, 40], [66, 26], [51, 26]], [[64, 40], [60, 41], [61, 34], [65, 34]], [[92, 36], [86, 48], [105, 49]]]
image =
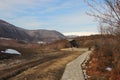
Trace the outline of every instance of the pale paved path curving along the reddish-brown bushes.
[[85, 80], [81, 65], [90, 53], [91, 51], [87, 51], [68, 63], [61, 80]]

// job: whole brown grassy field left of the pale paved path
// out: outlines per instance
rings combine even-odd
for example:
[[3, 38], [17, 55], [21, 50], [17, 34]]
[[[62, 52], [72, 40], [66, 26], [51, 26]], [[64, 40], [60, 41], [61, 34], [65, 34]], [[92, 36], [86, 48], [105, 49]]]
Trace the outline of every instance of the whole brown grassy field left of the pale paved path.
[[20, 56], [0, 56], [0, 80], [59, 80], [65, 65], [85, 51], [60, 50], [69, 46], [67, 40], [49, 44], [0, 40], [0, 55], [5, 49], [15, 49], [21, 53]]

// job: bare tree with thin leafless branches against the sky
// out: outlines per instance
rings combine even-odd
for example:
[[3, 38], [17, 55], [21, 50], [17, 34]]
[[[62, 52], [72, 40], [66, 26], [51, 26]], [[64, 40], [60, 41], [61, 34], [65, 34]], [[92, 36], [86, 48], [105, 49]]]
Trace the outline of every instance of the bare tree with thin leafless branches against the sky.
[[91, 8], [87, 14], [99, 21], [102, 34], [120, 36], [120, 0], [85, 0], [85, 2]]

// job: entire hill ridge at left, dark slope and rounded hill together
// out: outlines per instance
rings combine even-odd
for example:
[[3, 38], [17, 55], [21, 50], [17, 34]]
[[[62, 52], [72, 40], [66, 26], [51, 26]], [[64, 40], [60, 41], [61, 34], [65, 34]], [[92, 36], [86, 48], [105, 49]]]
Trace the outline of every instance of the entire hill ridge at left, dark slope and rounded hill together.
[[0, 37], [29, 42], [52, 42], [65, 39], [65, 36], [54, 30], [26, 30], [0, 20]]

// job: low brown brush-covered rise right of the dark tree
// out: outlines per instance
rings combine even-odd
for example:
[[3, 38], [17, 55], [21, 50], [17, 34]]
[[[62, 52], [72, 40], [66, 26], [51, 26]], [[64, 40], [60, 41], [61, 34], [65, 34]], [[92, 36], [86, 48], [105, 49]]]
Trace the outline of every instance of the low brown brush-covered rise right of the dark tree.
[[104, 39], [114, 39], [115, 36], [113, 35], [91, 35], [91, 36], [81, 36], [77, 37], [75, 40], [79, 43], [80, 47], [93, 47], [96, 45], [96, 43], [103, 43]]

